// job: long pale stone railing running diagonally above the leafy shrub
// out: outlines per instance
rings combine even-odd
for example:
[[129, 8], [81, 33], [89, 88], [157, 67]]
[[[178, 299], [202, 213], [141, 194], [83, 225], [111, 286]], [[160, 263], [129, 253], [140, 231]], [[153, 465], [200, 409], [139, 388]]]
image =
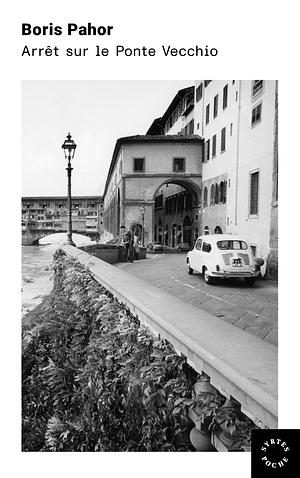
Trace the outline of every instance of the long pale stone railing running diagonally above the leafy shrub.
[[[198, 372], [203, 387], [227, 398], [224, 413], [239, 404], [239, 410], [260, 428], [277, 428], [277, 348], [211, 314], [119, 270], [86, 252], [63, 246], [66, 253], [89, 267], [94, 278], [138, 316], [156, 336], [168, 340], [178, 354]], [[204, 386], [202, 382], [205, 382]], [[200, 390], [200, 392], [199, 392]], [[207, 390], [206, 390], [207, 391]], [[229, 414], [230, 415], [230, 414]], [[197, 410], [191, 412], [195, 448], [207, 430], [201, 427]], [[209, 436], [210, 436], [209, 432]], [[221, 451], [233, 450], [226, 429], [210, 436]], [[234, 438], [238, 439], [235, 435]], [[200, 441], [201, 441], [200, 440]]]

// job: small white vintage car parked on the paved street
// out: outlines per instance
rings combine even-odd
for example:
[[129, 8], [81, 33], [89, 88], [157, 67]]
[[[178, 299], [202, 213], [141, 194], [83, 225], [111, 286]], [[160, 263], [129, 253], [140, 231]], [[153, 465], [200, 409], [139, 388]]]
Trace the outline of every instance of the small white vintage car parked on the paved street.
[[214, 278], [244, 277], [248, 285], [260, 275], [262, 259], [255, 259], [248, 243], [235, 234], [200, 236], [186, 258], [188, 274], [200, 272], [207, 284]]

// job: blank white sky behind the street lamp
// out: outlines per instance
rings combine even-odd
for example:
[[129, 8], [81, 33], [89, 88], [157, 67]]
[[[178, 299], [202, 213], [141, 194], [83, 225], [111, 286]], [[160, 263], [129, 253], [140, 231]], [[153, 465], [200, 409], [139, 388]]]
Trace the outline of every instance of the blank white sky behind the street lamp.
[[72, 195], [101, 195], [115, 142], [145, 134], [180, 81], [23, 81], [22, 196], [65, 195], [68, 132], [77, 144]]

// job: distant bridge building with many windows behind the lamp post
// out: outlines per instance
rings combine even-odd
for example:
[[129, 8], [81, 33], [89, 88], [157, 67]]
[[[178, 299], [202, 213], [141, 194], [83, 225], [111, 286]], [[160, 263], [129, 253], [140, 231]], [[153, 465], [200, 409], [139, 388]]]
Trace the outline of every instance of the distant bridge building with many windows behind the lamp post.
[[[73, 232], [99, 238], [103, 231], [103, 202], [101, 196], [72, 197]], [[33, 237], [44, 237], [67, 231], [67, 199], [65, 196], [22, 198], [22, 234], [30, 231]]]

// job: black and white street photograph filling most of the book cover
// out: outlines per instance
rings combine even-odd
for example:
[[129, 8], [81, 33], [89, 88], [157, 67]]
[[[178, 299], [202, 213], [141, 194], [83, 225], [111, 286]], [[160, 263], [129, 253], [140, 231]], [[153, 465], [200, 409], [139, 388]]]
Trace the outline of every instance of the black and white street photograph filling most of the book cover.
[[278, 427], [278, 85], [22, 81], [23, 452]]

